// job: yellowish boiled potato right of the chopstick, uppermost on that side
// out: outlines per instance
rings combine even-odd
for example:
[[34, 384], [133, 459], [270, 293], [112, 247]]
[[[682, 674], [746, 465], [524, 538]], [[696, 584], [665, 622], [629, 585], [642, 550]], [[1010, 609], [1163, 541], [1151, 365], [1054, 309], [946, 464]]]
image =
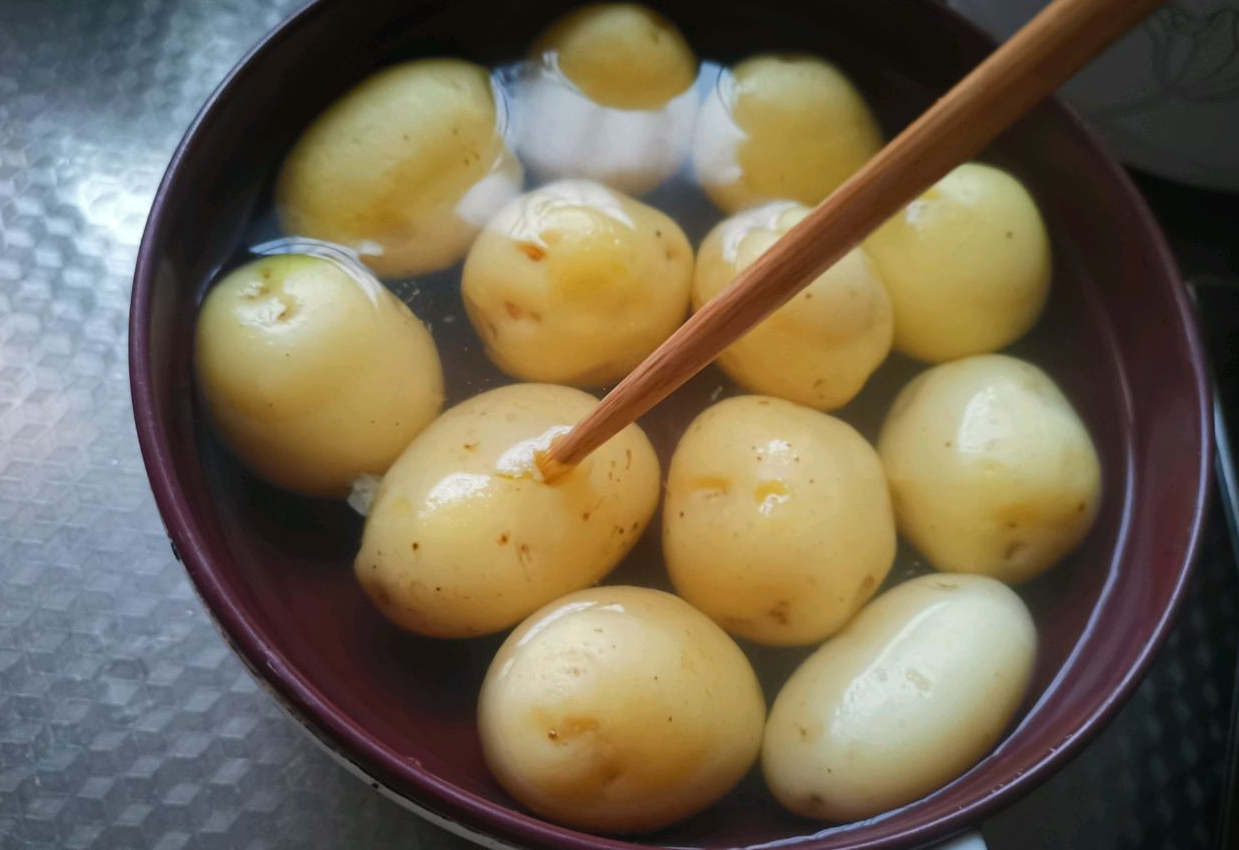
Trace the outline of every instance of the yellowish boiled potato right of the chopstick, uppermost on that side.
[[1049, 294], [1049, 237], [1011, 175], [969, 162], [865, 240], [895, 306], [895, 348], [930, 363], [1022, 337]]

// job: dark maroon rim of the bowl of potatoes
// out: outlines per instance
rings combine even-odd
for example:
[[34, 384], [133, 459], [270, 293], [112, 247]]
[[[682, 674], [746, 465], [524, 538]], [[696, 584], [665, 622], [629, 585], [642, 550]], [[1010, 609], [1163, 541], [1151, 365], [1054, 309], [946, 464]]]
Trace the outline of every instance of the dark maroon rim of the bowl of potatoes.
[[[963, 30], [973, 37], [984, 40], [987, 45], [994, 45], [994, 40], [987, 33], [953, 9], [928, 0], [918, 1], [922, 9], [934, 16], [940, 25]], [[648, 848], [649, 845], [638, 845], [618, 838], [598, 836], [558, 826], [517, 808], [467, 792], [434, 776], [420, 762], [399, 757], [357, 722], [338, 712], [316, 691], [311, 681], [300, 675], [279, 652], [264, 642], [247, 615], [232, 600], [214, 572], [203, 538], [195, 527], [190, 502], [173, 473], [171, 440], [160, 427], [156, 414], [149, 321], [159, 264], [156, 252], [165, 240], [164, 232], [167, 228], [167, 221], [173, 214], [169, 204], [169, 196], [182, 172], [190, 150], [195, 146], [197, 138], [203, 134], [203, 128], [218, 119], [223, 105], [235, 97], [247, 77], [255, 73], [258, 61], [278, 50], [279, 45], [290, 37], [294, 30], [321, 14], [328, 5], [328, 0], [309, 0], [291, 12], [275, 28], [261, 36], [214, 88], [172, 154], [155, 193], [139, 245], [129, 315], [130, 393], [139, 447], [173, 554], [182, 561], [212, 622], [255, 679], [275, 696], [276, 703], [289, 711], [300, 726], [310, 732], [312, 740], [322, 745], [346, 769], [368, 781], [372, 788], [392, 797], [405, 808], [437, 825], [491, 848], [548, 846], [567, 850]], [[985, 815], [1009, 805], [1017, 797], [1028, 793], [1061, 769], [1101, 731], [1144, 677], [1178, 612], [1183, 591], [1191, 579], [1199, 551], [1211, 499], [1214, 449], [1212, 400], [1204, 348], [1187, 289], [1166, 244], [1165, 235], [1144, 197], [1119, 162], [1106, 151], [1100, 138], [1057, 97], [1047, 99], [1042, 109], [1048, 109], [1054, 120], [1063, 124], [1079, 139], [1082, 152], [1092, 160], [1097, 173], [1101, 176], [1113, 196], [1131, 211], [1134, 228], [1141, 232], [1147, 240], [1147, 248], [1154, 259], [1151, 274], [1166, 280], [1171, 290], [1175, 312], [1170, 320], [1184, 333], [1193, 379], [1192, 395], [1201, 423], [1199, 431], [1192, 435], [1201, 451], [1194, 471], [1197, 487], [1186, 548], [1177, 564], [1176, 580], [1167, 603], [1140, 647], [1135, 662], [1119, 685], [1108, 691], [1092, 708], [1068, 738], [1049, 752], [1042, 753], [1025, 771], [1014, 776], [1010, 782], [994, 788], [971, 804], [890, 835], [861, 840], [855, 845], [856, 848], [913, 846], [944, 839], [975, 825]], [[388, 782], [388, 777], [395, 782]], [[405, 786], [410, 793], [404, 793], [395, 786]], [[812, 835], [778, 840], [779, 845], [799, 850], [813, 850], [819, 843], [820, 839]]]

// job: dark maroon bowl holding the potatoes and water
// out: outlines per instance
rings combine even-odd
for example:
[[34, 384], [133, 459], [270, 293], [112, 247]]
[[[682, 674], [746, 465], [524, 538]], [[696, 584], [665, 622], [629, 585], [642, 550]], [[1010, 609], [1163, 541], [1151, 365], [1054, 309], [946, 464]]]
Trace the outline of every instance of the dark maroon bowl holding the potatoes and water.
[[[513, 58], [567, 5], [323, 0], [268, 36], [211, 98], [160, 187], [134, 280], [130, 377], [151, 486], [190, 577], [235, 651], [320, 741], [377, 788], [475, 838], [618, 849], [634, 845], [545, 823], [503, 793], [483, 767], [473, 727], [475, 694], [497, 641], [424, 641], [387, 626], [348, 565], [358, 520], [337, 504], [284, 496], [240, 471], [211, 435], [190, 363], [203, 287], [234, 261], [242, 233], [268, 203], [274, 166], [315, 113], [398, 58]], [[803, 48], [833, 57], [888, 130], [991, 48], [927, 1], [658, 5], [703, 56], [732, 61], [755, 50]], [[825, 826], [792, 818], [751, 777], [720, 805], [642, 844], [783, 841], [825, 850], [945, 836], [1061, 767], [1130, 694], [1165, 636], [1196, 553], [1209, 468], [1208, 394], [1182, 284], [1121, 169], [1059, 104], [1021, 121], [986, 159], [1032, 188], [1054, 242], [1049, 309], [1017, 351], [1062, 383], [1105, 468], [1093, 534], [1025, 594], [1042, 642], [1022, 719], [965, 776], [872, 820]], [[493, 379], [461, 325], [435, 328], [457, 398]], [[900, 361], [885, 367], [851, 406], [852, 420], [872, 427], [912, 368]], [[667, 410], [647, 423], [655, 441], [686, 415]], [[631, 560], [631, 570], [660, 574], [657, 540]], [[767, 686], [777, 686], [797, 658], [757, 653]]]

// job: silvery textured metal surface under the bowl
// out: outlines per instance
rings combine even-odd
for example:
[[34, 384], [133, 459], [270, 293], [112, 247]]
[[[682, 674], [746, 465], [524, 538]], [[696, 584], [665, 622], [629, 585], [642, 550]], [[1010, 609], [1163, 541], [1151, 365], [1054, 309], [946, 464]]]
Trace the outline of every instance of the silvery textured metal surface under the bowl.
[[[134, 437], [147, 207], [209, 89], [295, 5], [0, 0], [0, 846], [465, 846], [336, 767], [230, 655]], [[1208, 845], [1237, 643], [1211, 528], [1135, 700], [991, 846]]]

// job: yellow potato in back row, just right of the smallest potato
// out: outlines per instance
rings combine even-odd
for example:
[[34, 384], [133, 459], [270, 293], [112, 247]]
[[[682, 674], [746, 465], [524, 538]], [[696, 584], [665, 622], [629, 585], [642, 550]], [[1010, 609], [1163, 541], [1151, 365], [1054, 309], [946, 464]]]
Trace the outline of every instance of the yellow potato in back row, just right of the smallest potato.
[[755, 56], [724, 73], [698, 119], [698, 181], [729, 213], [766, 201], [814, 204], [882, 146], [865, 99], [833, 64]]

